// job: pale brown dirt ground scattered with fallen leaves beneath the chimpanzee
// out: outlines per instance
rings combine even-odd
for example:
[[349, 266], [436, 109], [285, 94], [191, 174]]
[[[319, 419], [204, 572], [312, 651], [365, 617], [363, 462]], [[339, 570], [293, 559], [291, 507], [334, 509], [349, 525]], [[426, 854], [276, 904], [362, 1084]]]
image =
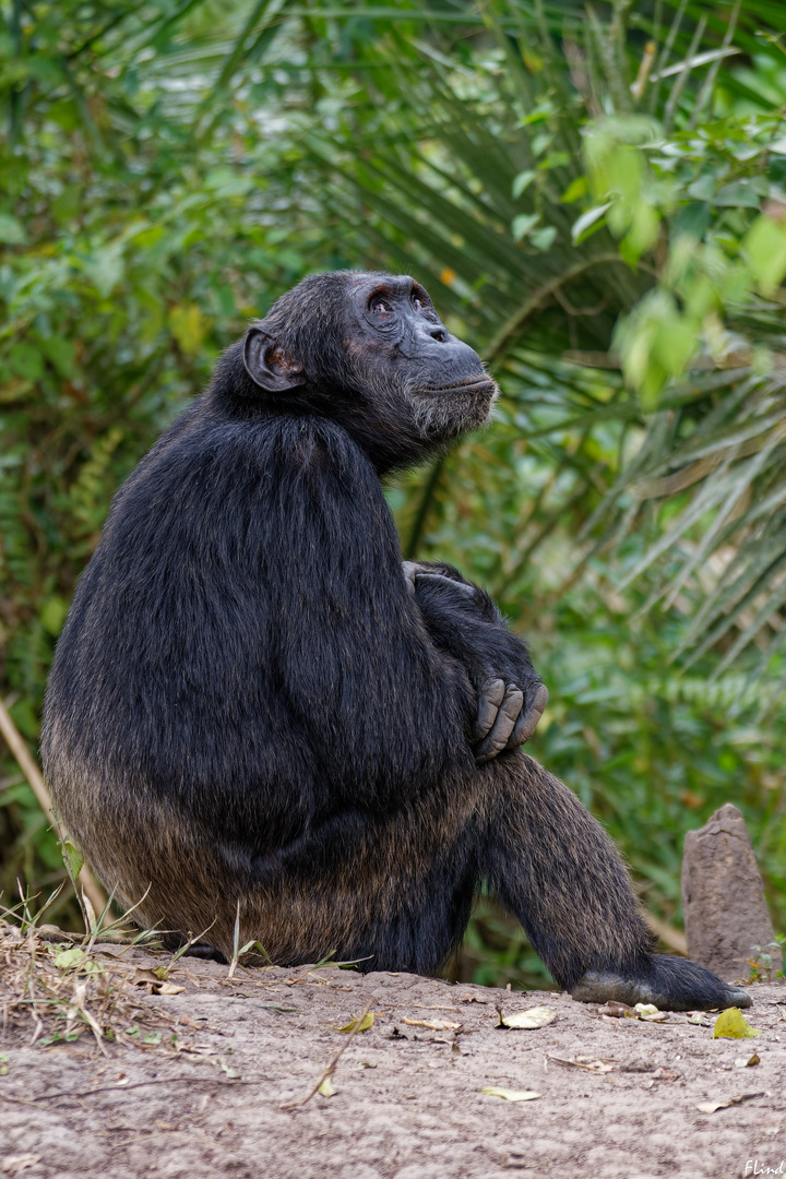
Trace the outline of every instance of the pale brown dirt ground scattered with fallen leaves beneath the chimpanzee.
[[[108, 963], [117, 953], [100, 947], [95, 957]], [[714, 1015], [643, 1022], [567, 995], [335, 967], [239, 968], [230, 979], [227, 967], [187, 957], [169, 975], [169, 987], [183, 990], [151, 993], [156, 976], [143, 971], [165, 960], [124, 953], [132, 1006], [111, 1043], [79, 1023], [79, 1039], [46, 1045], [35, 1017], [4, 1019], [4, 1174], [786, 1174], [782, 986], [749, 988], [754, 1006], [745, 1014], [761, 1035], [725, 1040], [713, 1039]], [[369, 1005], [374, 1026], [348, 1042], [336, 1028]], [[546, 1006], [556, 1019], [506, 1030], [496, 1005], [506, 1016]], [[306, 1096], [343, 1045], [335, 1095], [285, 1108]], [[737, 1063], [754, 1054], [758, 1063]], [[487, 1087], [539, 1096], [509, 1101]], [[698, 1108], [740, 1096], [713, 1113]]]

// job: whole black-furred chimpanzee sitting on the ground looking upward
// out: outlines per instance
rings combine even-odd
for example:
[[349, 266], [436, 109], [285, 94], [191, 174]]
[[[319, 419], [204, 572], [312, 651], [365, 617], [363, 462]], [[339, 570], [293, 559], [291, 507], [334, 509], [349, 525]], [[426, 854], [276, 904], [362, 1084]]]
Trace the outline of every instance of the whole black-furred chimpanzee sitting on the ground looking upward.
[[[487, 881], [582, 1000], [747, 1006], [653, 937], [517, 746], [547, 700], [491, 600], [402, 564], [381, 487], [489, 417], [405, 276], [303, 279], [118, 492], [49, 677], [58, 815], [133, 917], [273, 962], [435, 971]], [[251, 957], [247, 961], [253, 961]]]

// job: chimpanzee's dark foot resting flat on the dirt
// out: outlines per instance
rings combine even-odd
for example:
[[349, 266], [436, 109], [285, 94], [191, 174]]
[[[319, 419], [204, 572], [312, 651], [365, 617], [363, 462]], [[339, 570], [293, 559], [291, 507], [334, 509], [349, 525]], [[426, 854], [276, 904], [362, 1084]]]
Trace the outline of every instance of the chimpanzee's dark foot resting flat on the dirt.
[[751, 996], [712, 970], [687, 959], [650, 954], [641, 970], [614, 974], [588, 970], [570, 994], [582, 1003], [654, 1003], [660, 1010], [696, 1012], [714, 1007], [749, 1007]]

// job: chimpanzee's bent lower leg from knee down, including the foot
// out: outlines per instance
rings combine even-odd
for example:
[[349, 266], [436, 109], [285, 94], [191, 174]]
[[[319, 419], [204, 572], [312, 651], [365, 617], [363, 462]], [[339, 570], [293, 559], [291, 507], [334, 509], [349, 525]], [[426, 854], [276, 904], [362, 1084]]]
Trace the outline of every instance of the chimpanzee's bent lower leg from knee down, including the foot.
[[704, 967], [652, 953], [616, 847], [567, 786], [523, 753], [478, 772], [495, 801], [481, 870], [561, 987], [584, 1001], [672, 1010], [749, 1006]]

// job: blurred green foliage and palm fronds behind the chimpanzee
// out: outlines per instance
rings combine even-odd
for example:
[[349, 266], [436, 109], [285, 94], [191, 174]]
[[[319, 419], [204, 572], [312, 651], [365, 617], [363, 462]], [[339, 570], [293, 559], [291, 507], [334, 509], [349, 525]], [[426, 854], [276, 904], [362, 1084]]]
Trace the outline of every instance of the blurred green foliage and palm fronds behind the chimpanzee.
[[[733, 801], [786, 928], [777, 0], [0, 14], [0, 692], [31, 745], [110, 499], [219, 350], [308, 271], [405, 270], [503, 397], [390, 487], [404, 552], [528, 637], [533, 753], [655, 916]], [[0, 766], [0, 887], [46, 891], [55, 841]], [[543, 979], [488, 901], [453, 973]]]

